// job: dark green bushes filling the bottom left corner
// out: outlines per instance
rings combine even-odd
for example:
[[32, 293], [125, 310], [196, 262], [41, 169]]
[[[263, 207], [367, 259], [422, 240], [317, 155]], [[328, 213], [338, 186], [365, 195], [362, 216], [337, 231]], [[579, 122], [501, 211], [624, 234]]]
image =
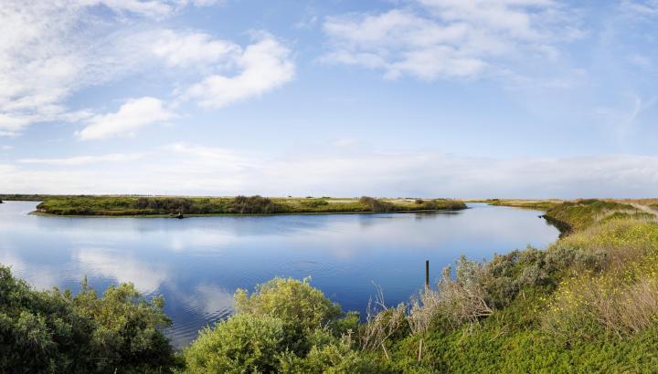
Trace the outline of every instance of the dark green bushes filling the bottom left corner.
[[168, 371], [162, 306], [126, 284], [101, 297], [86, 284], [39, 292], [0, 266], [0, 372]]

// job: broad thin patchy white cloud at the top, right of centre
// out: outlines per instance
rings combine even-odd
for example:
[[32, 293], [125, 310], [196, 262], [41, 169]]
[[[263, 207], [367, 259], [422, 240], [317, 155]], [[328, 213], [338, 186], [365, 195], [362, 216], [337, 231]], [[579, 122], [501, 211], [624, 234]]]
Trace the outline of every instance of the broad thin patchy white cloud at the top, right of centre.
[[327, 18], [333, 47], [323, 60], [381, 69], [387, 78], [477, 78], [503, 74], [520, 57], [554, 58], [558, 41], [582, 36], [552, 0], [412, 3]]

